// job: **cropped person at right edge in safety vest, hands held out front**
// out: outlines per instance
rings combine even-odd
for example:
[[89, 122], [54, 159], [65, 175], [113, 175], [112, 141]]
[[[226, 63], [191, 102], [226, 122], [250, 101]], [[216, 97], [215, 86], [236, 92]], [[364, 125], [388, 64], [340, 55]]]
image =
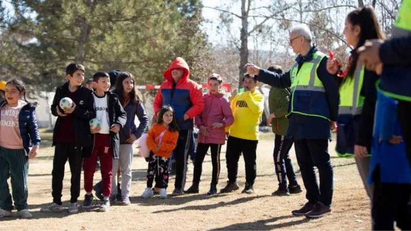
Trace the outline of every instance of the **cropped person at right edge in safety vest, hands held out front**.
[[398, 119], [411, 164], [411, 0], [403, 0], [388, 41], [371, 40], [358, 49], [358, 62], [381, 74], [377, 90], [399, 101]]

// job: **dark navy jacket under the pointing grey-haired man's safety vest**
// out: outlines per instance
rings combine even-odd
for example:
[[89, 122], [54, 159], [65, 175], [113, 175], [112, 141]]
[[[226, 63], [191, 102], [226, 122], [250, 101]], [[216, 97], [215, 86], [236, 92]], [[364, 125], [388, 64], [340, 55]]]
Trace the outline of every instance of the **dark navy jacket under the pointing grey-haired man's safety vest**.
[[[317, 50], [318, 48], [316, 46], [313, 46], [306, 56], [298, 55], [298, 57], [295, 59], [295, 62], [297, 62], [298, 64], [298, 70], [300, 70], [304, 62], [312, 60], [312, 55]], [[326, 91], [330, 120], [337, 121], [340, 93], [337, 84], [327, 71], [327, 60], [328, 57], [324, 57], [324, 59], [320, 62], [319, 67], [317, 68], [317, 76], [323, 83]], [[287, 88], [291, 86], [290, 71], [284, 74], [277, 74], [268, 70], [260, 69], [258, 76], [256, 76], [256, 80], [277, 88]], [[290, 97], [291, 104], [292, 94], [290, 95]], [[294, 101], [294, 104], [297, 103], [299, 102]], [[306, 105], [299, 106], [306, 107]], [[289, 111], [290, 109], [291, 105], [289, 105], [288, 107]], [[320, 117], [311, 117], [307, 115], [292, 113], [289, 115], [287, 137], [294, 140], [331, 140], [330, 122]]]

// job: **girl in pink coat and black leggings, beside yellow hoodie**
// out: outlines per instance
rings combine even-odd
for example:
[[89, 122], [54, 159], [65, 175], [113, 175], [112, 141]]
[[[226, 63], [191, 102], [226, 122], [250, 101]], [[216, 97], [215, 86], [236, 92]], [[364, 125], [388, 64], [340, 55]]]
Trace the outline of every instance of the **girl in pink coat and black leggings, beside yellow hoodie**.
[[233, 113], [228, 99], [221, 92], [221, 77], [212, 74], [208, 81], [210, 93], [203, 95], [204, 110], [195, 117], [198, 132], [197, 154], [194, 162], [193, 185], [184, 191], [188, 194], [198, 193], [202, 162], [209, 148], [211, 148], [211, 161], [213, 164], [213, 177], [207, 195], [217, 193], [218, 177], [220, 175], [221, 145], [226, 143], [225, 128], [234, 122]]

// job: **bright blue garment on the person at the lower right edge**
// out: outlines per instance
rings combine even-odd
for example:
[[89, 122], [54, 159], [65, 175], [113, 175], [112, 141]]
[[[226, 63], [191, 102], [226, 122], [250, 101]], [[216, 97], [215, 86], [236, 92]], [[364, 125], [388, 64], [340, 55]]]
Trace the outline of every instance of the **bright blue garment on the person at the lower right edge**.
[[[405, 143], [387, 142], [393, 136], [403, 136], [397, 111], [398, 101], [379, 92], [368, 183], [372, 183], [374, 171], [379, 166], [381, 182], [411, 184], [411, 166], [407, 161]], [[381, 143], [379, 138], [383, 140]]]

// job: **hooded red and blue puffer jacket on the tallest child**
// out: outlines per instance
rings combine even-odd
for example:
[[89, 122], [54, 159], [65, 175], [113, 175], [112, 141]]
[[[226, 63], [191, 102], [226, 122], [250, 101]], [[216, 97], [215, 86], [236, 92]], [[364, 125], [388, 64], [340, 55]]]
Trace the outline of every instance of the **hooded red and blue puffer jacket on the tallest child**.
[[[171, 71], [176, 68], [184, 69], [184, 75], [174, 84]], [[154, 99], [154, 113], [157, 114], [163, 105], [171, 105], [176, 113], [177, 124], [180, 130], [193, 129], [193, 119], [204, 109], [204, 100], [200, 86], [189, 80], [189, 65], [177, 57], [170, 67], [164, 72], [165, 81], [161, 84]], [[184, 114], [190, 119], [184, 121]]]

